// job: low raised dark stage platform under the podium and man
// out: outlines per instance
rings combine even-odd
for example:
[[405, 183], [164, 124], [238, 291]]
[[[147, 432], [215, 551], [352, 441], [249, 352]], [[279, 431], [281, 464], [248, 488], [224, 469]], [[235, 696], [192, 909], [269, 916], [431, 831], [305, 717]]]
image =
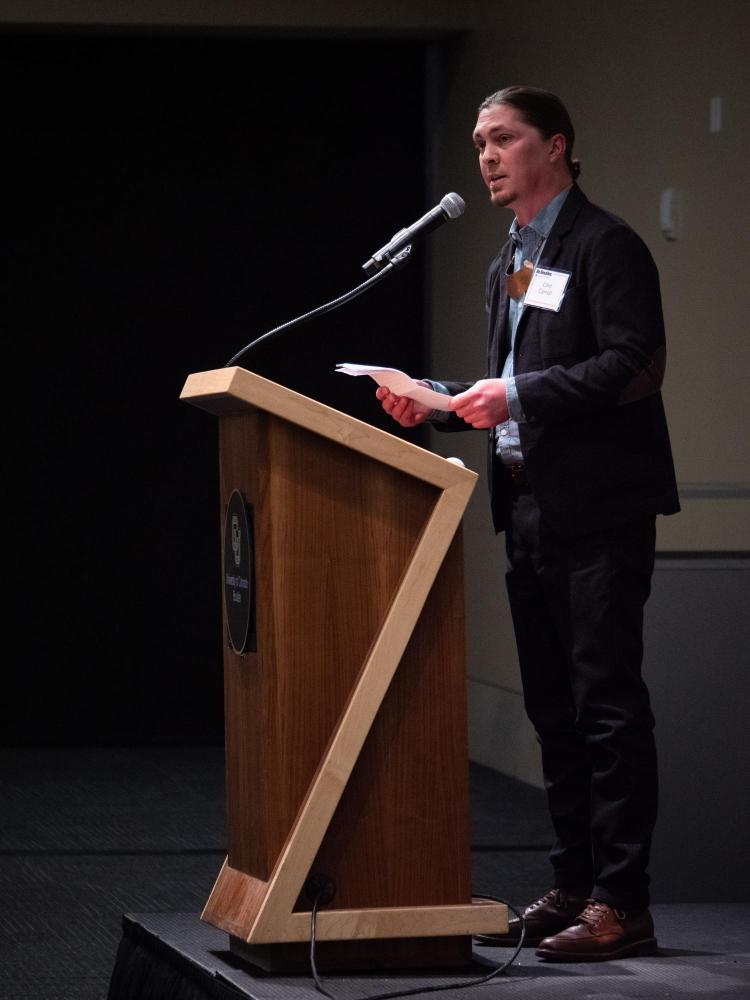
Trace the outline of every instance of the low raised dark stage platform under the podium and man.
[[[524, 949], [519, 960], [497, 979], [469, 986], [503, 964], [510, 949], [474, 949], [467, 970], [350, 973], [321, 976], [324, 988], [340, 1000], [360, 1000], [385, 992], [440, 991], [455, 1000], [471, 997], [533, 997], [535, 1000], [655, 1000], [750, 995], [750, 905], [655, 905], [660, 951], [653, 958], [617, 962], [552, 964]], [[456, 984], [448, 990], [449, 984]], [[137, 984], [138, 992], [133, 992]], [[228, 951], [226, 934], [202, 923], [196, 913], [130, 914], [124, 919], [123, 945], [109, 1000], [135, 996], [162, 1000], [313, 1000], [320, 998], [310, 975], [268, 975], [242, 967]]]

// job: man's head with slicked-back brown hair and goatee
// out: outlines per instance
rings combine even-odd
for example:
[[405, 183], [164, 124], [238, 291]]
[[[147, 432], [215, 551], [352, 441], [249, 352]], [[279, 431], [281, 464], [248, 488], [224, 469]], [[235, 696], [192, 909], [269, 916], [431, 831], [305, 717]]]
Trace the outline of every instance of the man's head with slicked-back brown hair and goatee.
[[536, 87], [505, 87], [479, 107], [474, 144], [492, 203], [530, 221], [579, 173], [562, 101]]

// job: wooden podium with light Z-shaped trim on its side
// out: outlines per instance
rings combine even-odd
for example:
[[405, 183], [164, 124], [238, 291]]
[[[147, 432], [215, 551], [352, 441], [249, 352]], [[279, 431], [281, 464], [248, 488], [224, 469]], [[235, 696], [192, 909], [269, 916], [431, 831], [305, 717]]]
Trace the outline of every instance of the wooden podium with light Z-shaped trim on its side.
[[254, 550], [254, 649], [224, 648], [228, 856], [202, 919], [290, 968], [324, 889], [322, 967], [468, 962], [472, 934], [507, 926], [471, 890], [475, 473], [242, 368], [189, 376], [181, 399], [219, 418], [222, 523], [239, 491]]

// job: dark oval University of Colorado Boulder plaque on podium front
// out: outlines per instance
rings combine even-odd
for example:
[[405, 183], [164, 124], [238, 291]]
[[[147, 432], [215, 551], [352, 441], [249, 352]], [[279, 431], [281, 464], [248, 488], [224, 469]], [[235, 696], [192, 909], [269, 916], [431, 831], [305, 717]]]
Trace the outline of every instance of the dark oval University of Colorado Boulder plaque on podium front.
[[224, 609], [235, 653], [255, 649], [255, 579], [252, 510], [232, 490], [224, 518]]

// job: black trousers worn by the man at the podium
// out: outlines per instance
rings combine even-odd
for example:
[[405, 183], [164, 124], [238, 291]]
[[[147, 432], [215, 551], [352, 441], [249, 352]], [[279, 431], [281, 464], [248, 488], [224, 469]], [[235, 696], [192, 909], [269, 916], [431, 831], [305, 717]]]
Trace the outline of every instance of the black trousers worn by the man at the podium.
[[556, 835], [554, 884], [645, 907], [657, 764], [641, 660], [655, 518], [562, 538], [531, 493], [512, 508], [506, 582]]

